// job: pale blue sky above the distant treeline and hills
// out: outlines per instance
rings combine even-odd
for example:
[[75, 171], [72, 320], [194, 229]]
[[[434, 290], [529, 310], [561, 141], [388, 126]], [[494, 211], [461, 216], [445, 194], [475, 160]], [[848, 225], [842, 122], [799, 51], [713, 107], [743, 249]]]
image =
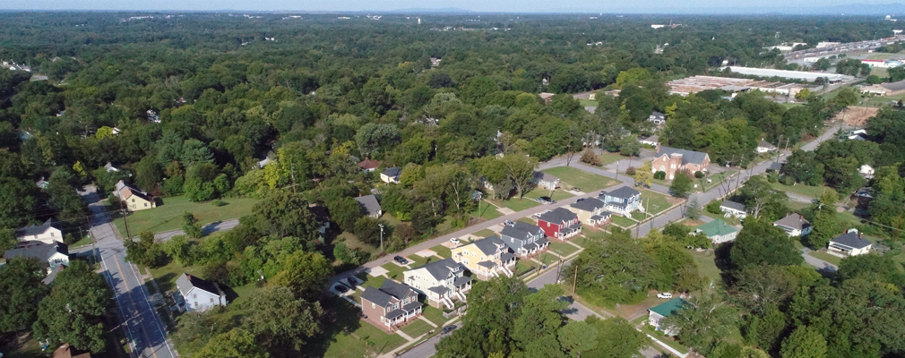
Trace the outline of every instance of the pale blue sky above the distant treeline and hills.
[[[3, 0], [7, 10], [257, 10], [257, 11], [391, 11], [461, 8], [481, 12], [662, 12], [741, 8], [817, 8], [836, 5], [881, 5], [900, 0]], [[900, 7], [901, 5], [894, 6]], [[659, 11], [658, 11], [659, 10]]]

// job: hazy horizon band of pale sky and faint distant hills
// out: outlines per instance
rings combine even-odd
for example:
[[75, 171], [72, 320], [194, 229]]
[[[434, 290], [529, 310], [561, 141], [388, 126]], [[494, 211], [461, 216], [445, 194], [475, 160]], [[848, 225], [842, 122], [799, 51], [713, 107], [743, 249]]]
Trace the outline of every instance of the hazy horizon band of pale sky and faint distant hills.
[[890, 0], [877, 1], [813, 1], [767, 0], [751, 5], [743, 0], [692, 0], [681, 4], [663, 0], [614, 1], [605, 4], [588, 4], [577, 0], [564, 0], [550, 5], [537, 0], [486, 2], [476, 0], [419, 2], [413, 0], [386, 0], [382, 2], [310, 0], [305, 2], [271, 0], [247, 2], [238, 0], [162, 0], [156, 2], [138, 0], [8, 0], [0, 9], [6, 11], [265, 11], [265, 12], [394, 12], [404, 10], [437, 11], [462, 9], [487, 13], [625, 13], [625, 14], [744, 14], [757, 12], [783, 12], [789, 14], [828, 14], [845, 11], [853, 14], [882, 14], [905, 9], [905, 5]]

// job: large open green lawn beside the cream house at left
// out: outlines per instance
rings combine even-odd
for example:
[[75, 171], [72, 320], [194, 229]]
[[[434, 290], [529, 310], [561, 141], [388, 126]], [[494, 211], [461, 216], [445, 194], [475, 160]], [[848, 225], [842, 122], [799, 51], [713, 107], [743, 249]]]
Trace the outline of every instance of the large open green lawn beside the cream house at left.
[[[252, 198], [227, 198], [223, 200], [224, 206], [214, 206], [212, 203], [189, 202], [185, 196], [170, 196], [163, 198], [163, 204], [154, 209], [133, 212], [129, 215], [129, 231], [132, 236], [138, 236], [143, 231], [170, 231], [182, 229], [183, 212], [195, 214], [195, 219], [202, 226], [216, 221], [236, 219], [252, 212], [252, 206], [260, 202], [260, 199]], [[113, 221], [119, 232], [126, 234], [126, 225], [122, 218]]]

